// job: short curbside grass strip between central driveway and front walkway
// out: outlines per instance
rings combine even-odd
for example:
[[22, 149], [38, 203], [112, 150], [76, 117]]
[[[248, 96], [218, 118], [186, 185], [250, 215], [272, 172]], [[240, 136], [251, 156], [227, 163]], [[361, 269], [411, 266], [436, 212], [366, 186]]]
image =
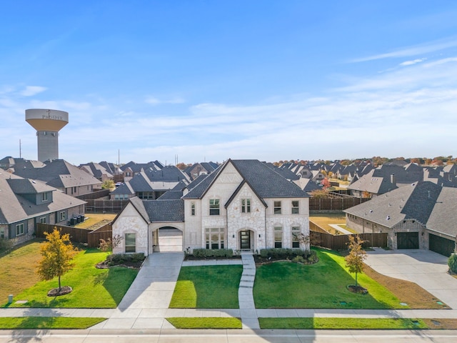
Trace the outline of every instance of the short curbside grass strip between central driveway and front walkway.
[[239, 318], [170, 317], [166, 318], [176, 329], [241, 329]]

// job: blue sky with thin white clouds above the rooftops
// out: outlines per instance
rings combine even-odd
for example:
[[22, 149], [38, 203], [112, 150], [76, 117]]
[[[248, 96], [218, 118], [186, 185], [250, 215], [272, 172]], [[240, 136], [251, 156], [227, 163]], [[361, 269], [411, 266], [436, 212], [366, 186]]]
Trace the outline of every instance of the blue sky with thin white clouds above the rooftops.
[[25, 109], [89, 161], [456, 155], [456, 1], [7, 1], [0, 158]]

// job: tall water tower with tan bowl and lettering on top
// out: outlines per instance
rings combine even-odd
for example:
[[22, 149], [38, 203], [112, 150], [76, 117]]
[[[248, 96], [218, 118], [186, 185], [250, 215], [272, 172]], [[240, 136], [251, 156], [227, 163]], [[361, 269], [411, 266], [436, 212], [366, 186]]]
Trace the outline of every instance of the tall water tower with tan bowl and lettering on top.
[[38, 160], [59, 159], [59, 130], [69, 124], [68, 112], [26, 109], [26, 121], [36, 129]]

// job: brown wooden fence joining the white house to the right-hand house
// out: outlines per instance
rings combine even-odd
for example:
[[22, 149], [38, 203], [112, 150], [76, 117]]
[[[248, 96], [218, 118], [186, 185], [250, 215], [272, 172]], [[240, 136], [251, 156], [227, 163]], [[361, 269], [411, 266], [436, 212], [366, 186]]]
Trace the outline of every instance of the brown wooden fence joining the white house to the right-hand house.
[[[332, 250], [348, 249], [349, 236], [351, 235], [338, 234], [338, 236], [334, 236], [333, 234], [328, 234], [324, 232], [310, 232], [310, 239], [312, 245]], [[358, 234], [358, 237], [366, 241], [362, 244], [362, 247], [365, 249], [371, 247], [387, 247], [386, 233]]]

